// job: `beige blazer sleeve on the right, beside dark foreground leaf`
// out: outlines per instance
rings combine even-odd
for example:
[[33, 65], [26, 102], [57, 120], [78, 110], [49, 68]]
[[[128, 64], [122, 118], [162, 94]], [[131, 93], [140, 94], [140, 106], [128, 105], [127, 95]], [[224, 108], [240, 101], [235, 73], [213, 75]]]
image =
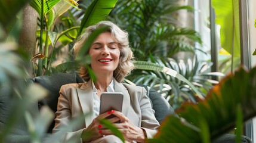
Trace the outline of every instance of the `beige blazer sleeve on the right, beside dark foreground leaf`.
[[146, 130], [147, 138], [153, 138], [160, 126], [158, 120], [155, 117], [155, 110], [153, 110], [150, 104], [149, 97], [146, 95], [146, 89], [141, 88], [141, 97], [139, 99], [141, 110], [141, 128]]

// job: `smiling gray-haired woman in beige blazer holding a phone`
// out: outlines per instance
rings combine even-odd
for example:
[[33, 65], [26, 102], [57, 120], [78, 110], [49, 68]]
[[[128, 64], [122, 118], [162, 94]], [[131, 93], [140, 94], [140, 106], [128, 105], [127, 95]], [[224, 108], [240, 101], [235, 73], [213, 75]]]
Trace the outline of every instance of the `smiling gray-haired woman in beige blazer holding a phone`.
[[[61, 126], [67, 125], [70, 119], [81, 114], [92, 113], [91, 116], [85, 117], [84, 125], [66, 133], [66, 141], [70, 138], [80, 139], [83, 133], [91, 131], [93, 134], [90, 138], [80, 140], [82, 142], [122, 142], [98, 121], [113, 114], [115, 117], [109, 121], [122, 132], [126, 142], [144, 142], [146, 138], [152, 138], [155, 135], [159, 123], [146, 96], [146, 90], [140, 86], [121, 83], [124, 77], [134, 69], [128, 33], [110, 21], [101, 21], [88, 27], [81, 35], [74, 46], [75, 54], [78, 54], [88, 36], [103, 26], [107, 26], [108, 29], [95, 39], [89, 49], [90, 66], [97, 79], [92, 81], [87, 68], [81, 67], [79, 74], [85, 83], [67, 84], [61, 87], [53, 132], [60, 131]], [[124, 94], [122, 112], [112, 110], [99, 114], [100, 95], [103, 92]], [[116, 123], [117, 121], [120, 123]]]

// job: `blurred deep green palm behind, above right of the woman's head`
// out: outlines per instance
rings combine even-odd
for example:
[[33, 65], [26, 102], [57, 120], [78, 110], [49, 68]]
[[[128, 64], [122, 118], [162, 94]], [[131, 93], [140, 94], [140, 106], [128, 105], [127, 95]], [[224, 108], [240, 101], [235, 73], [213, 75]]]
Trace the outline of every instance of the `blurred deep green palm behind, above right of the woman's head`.
[[178, 51], [195, 51], [195, 42], [202, 43], [195, 30], [178, 27], [171, 14], [190, 10], [177, 1], [119, 1], [108, 17], [129, 33], [129, 41], [137, 60], [147, 60], [149, 54], [171, 57]]

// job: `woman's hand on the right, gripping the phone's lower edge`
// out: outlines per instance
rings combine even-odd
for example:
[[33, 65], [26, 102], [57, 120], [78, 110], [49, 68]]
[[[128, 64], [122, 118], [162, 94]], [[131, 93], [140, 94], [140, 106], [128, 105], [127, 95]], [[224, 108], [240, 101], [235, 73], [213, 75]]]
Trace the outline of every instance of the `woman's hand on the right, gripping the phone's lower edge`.
[[[120, 111], [112, 110], [111, 114], [114, 114], [116, 117], [109, 119], [110, 122], [114, 123], [124, 135], [125, 140], [127, 141], [137, 141], [144, 142], [145, 136], [141, 128], [134, 126], [127, 117], [124, 116]], [[121, 123], [115, 123], [120, 120]], [[102, 129], [101, 135], [110, 135], [113, 134], [110, 130]]]

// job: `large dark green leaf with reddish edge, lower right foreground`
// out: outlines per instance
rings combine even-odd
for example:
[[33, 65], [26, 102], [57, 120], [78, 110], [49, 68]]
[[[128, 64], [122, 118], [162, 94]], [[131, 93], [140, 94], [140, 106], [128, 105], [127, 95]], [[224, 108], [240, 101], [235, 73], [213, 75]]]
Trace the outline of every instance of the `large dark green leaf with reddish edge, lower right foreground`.
[[229, 74], [198, 104], [183, 104], [175, 116], [166, 117], [155, 138], [148, 142], [210, 141], [256, 116], [256, 67]]

